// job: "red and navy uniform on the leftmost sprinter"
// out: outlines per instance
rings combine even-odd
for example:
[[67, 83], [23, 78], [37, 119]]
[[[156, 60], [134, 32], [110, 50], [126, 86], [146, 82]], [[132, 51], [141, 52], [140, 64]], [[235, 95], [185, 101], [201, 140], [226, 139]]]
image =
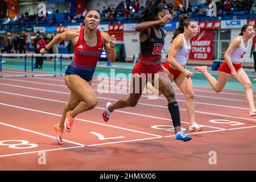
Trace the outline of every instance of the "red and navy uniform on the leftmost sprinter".
[[74, 46], [74, 60], [68, 65], [65, 75], [79, 75], [86, 81], [92, 80], [97, 61], [100, 59], [104, 47], [99, 30], [97, 30], [97, 39], [96, 46], [87, 46], [84, 41], [84, 27], [81, 28], [79, 40]]

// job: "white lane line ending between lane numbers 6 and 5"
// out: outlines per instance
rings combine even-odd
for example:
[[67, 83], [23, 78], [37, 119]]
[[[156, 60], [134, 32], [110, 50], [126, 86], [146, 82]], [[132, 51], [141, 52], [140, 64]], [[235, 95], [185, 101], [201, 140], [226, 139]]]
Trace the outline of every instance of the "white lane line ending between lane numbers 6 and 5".
[[[28, 98], [35, 98], [35, 99], [39, 99], [39, 100], [46, 100], [46, 101], [52, 101], [52, 102], [60, 102], [60, 103], [64, 103], [64, 104], [67, 103], [67, 102], [65, 102], [65, 101], [52, 100], [52, 99], [49, 99], [49, 98], [42, 98], [42, 97], [27, 96], [27, 95], [23, 95], [23, 94], [8, 93], [8, 92], [2, 92], [2, 91], [0, 91], [0, 93], [13, 94], [13, 95], [16, 95], [16, 96], [28, 97]], [[103, 108], [103, 107], [95, 107], [95, 109], [105, 110], [105, 108]], [[167, 118], [161, 118], [161, 117], [155, 117], [155, 116], [151, 116], [151, 115], [144, 115], [144, 114], [131, 113], [131, 112], [121, 111], [121, 110], [115, 110], [115, 112], [118, 112], [118, 113], [125, 113], [125, 114], [132, 114], [132, 115], [138, 115], [138, 116], [141, 116], [141, 117], [149, 117], [149, 118], [161, 119], [161, 120], [165, 120], [165, 121], [172, 121], [171, 119], [167, 119]], [[180, 121], [180, 122], [181, 122], [181, 123], [189, 124], [189, 122], [184, 122], [184, 121]], [[110, 126], [110, 125], [108, 125], [108, 126]], [[221, 128], [219, 128], [219, 127], [208, 126], [208, 125], [202, 125], [202, 126], [211, 127], [211, 128], [214, 128], [214, 129], [221, 129]]]

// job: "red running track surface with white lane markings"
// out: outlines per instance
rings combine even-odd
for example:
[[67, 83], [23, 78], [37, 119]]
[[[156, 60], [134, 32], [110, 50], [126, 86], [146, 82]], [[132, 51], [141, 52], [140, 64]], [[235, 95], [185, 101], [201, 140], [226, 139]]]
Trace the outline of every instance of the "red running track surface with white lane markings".
[[[7, 123], [12, 126], [18, 126], [24, 129], [37, 131], [42, 134], [55, 137], [52, 125], [59, 122], [60, 114], [62, 113], [64, 102], [68, 101], [69, 90], [65, 86], [63, 77], [48, 77], [43, 80], [38, 78], [11, 78], [7, 80], [1, 78], [0, 80], [0, 102], [4, 104], [13, 105], [13, 107], [0, 105], [1, 117], [0, 122]], [[19, 82], [15, 80], [23, 80], [30, 82]], [[31, 83], [31, 81], [55, 84], [55, 85], [40, 85]], [[98, 81], [93, 80], [93, 84]], [[27, 86], [32, 88], [55, 90], [63, 93], [45, 92], [42, 90], [31, 90], [27, 88], [16, 88], [9, 85]], [[56, 86], [63, 85], [63, 86]], [[92, 85], [97, 89], [97, 85]], [[174, 86], [176, 88], [176, 86]], [[207, 90], [208, 88], [195, 89]], [[1, 93], [7, 92], [7, 93]], [[176, 93], [181, 93], [180, 90], [175, 89]], [[244, 94], [240, 90], [230, 90], [231, 93]], [[24, 96], [17, 96], [14, 94], [23, 94]], [[142, 97], [139, 102], [143, 104], [151, 104], [158, 106], [137, 105], [134, 108], [125, 108], [120, 111], [130, 112], [121, 113], [114, 112], [108, 123], [102, 121], [102, 109], [108, 99], [118, 99], [127, 97], [123, 94], [99, 94], [98, 97], [107, 98], [98, 99], [98, 109], [93, 109], [82, 113], [77, 118], [94, 121], [97, 123], [123, 127], [98, 125], [97, 123], [89, 123], [77, 120], [72, 128], [72, 133], [64, 134], [64, 139], [76, 142], [79, 144], [100, 144], [99, 146], [86, 146], [81, 147], [77, 144], [65, 142], [62, 146], [56, 144], [55, 139], [44, 137], [39, 134], [34, 134], [13, 127], [0, 125], [1, 131], [5, 131], [0, 135], [0, 140], [27, 140], [30, 143], [36, 143], [39, 146], [33, 149], [10, 149], [8, 146], [1, 146], [1, 155], [18, 154], [22, 152], [33, 152], [31, 154], [11, 155], [0, 157], [0, 169], [64, 169], [64, 170], [180, 170], [180, 169], [201, 169], [201, 170], [255, 170], [256, 159], [256, 134], [255, 134], [255, 120], [250, 118], [248, 111], [245, 109], [235, 109], [221, 106], [211, 106], [203, 104], [195, 104], [196, 111], [208, 112], [196, 113], [197, 122], [202, 125], [207, 125], [204, 131], [208, 133], [192, 134], [191, 142], [181, 142], [174, 140], [174, 137], [158, 138], [150, 134], [160, 136], [172, 136], [173, 131], [166, 131], [154, 129], [151, 126], [157, 125], [170, 125], [172, 122], [167, 108], [158, 106], [166, 106], [166, 101], [162, 99], [148, 100]], [[195, 95], [210, 96], [210, 97], [224, 97], [236, 100], [245, 100], [245, 96], [232, 96], [229, 94], [216, 94], [213, 92], [200, 92], [196, 91]], [[39, 98], [30, 98], [30, 96]], [[45, 100], [51, 99], [55, 101]], [[44, 100], [42, 100], [44, 99]], [[184, 100], [184, 96], [177, 94], [177, 100]], [[225, 101], [214, 100], [212, 98], [196, 97], [196, 102], [204, 102], [209, 104], [228, 105], [235, 107], [247, 107], [247, 102], [242, 101]], [[114, 102], [114, 101], [112, 101]], [[181, 109], [185, 109], [185, 102], [179, 102]], [[26, 107], [38, 111], [45, 111], [59, 115], [51, 115], [46, 113], [39, 113], [29, 111], [26, 109], [15, 108], [15, 106]], [[14, 114], [15, 113], [15, 114]], [[213, 115], [224, 114], [224, 116]], [[136, 115], [137, 114], [137, 115]], [[138, 115], [143, 114], [143, 115]], [[150, 115], [151, 117], [146, 117]], [[159, 117], [159, 118], [152, 118]], [[239, 118], [234, 118], [239, 117]], [[236, 121], [238, 125], [231, 126], [234, 123], [212, 123], [210, 119], [227, 119]], [[249, 120], [250, 119], [250, 120]], [[181, 110], [181, 120], [188, 122], [186, 111]], [[220, 121], [218, 121], [220, 122]], [[241, 124], [243, 123], [243, 125]], [[162, 126], [167, 127], [168, 126]], [[212, 126], [212, 127], [210, 127]], [[158, 126], [160, 127], [160, 126]], [[188, 129], [187, 123], [182, 123], [182, 127]], [[217, 127], [218, 129], [216, 129]], [[251, 127], [244, 129], [236, 129], [239, 127]], [[169, 129], [170, 129], [169, 128]], [[221, 131], [220, 129], [227, 129]], [[230, 130], [231, 129], [231, 130]], [[130, 131], [136, 130], [136, 131]], [[90, 132], [96, 132], [104, 135], [106, 138], [110, 137], [125, 137], [117, 139], [99, 140], [99, 138]], [[140, 133], [141, 132], [141, 133]], [[10, 134], [11, 133], [11, 134]], [[14, 133], [14, 134], [13, 134]], [[185, 133], [189, 133], [185, 131]], [[238, 137], [239, 136], [239, 137]], [[147, 139], [149, 140], [137, 140]], [[134, 140], [134, 141], [127, 141]], [[108, 143], [110, 142], [110, 143]], [[111, 143], [111, 142], [124, 142], [124, 143]], [[105, 144], [104, 144], [105, 143]], [[108, 144], [106, 144], [108, 143]], [[104, 144], [104, 145], [102, 145]], [[47, 164], [38, 164], [38, 153], [36, 151], [49, 150], [66, 147], [80, 147], [63, 149], [56, 151], [47, 151]], [[208, 155], [210, 151], [217, 152], [217, 165], [210, 165]], [[27, 160], [30, 159], [30, 160]], [[25, 167], [24, 167], [25, 166]]]

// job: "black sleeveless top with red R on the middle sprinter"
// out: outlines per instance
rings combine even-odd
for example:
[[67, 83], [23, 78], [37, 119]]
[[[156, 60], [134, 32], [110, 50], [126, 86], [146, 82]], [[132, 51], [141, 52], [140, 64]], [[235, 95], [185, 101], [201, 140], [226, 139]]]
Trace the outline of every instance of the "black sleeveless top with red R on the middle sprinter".
[[162, 32], [162, 38], [158, 38], [155, 35], [154, 28], [150, 28], [150, 36], [144, 42], [140, 43], [141, 52], [139, 54], [139, 60], [146, 62], [161, 61], [161, 51], [164, 45], [164, 31], [160, 28]]

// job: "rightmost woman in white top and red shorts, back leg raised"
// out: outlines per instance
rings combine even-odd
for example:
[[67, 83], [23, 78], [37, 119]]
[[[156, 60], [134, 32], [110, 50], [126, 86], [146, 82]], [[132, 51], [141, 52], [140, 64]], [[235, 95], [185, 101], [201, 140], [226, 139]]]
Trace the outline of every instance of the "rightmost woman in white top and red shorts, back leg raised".
[[250, 116], [255, 116], [256, 110], [254, 107], [251, 81], [242, 68], [243, 56], [249, 50], [249, 41], [254, 35], [253, 26], [251, 26], [251, 24], [245, 24], [241, 28], [239, 35], [240, 36], [237, 36], [237, 38], [232, 41], [225, 52], [225, 61], [221, 64], [220, 69], [218, 69], [218, 80], [210, 75], [207, 71], [207, 67], [194, 67], [193, 69], [204, 73], [210, 86], [212, 86], [213, 90], [217, 93], [221, 92], [231, 75], [233, 79], [236, 79], [245, 88], [245, 95], [250, 107], [249, 114]]

